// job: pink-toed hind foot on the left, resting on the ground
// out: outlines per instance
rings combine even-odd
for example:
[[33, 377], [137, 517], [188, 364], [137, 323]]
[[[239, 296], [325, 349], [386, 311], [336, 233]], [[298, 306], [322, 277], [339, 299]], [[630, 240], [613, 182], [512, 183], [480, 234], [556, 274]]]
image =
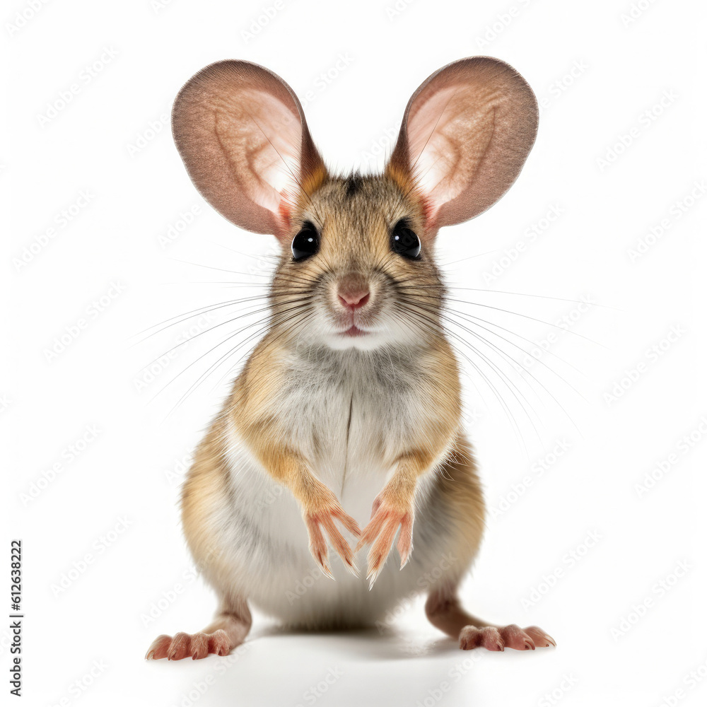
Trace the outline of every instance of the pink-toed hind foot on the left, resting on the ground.
[[209, 653], [228, 655], [245, 641], [250, 624], [252, 619], [245, 600], [228, 602], [204, 631], [158, 636], [148, 648], [145, 658], [182, 660], [191, 657], [197, 660], [206, 658]]

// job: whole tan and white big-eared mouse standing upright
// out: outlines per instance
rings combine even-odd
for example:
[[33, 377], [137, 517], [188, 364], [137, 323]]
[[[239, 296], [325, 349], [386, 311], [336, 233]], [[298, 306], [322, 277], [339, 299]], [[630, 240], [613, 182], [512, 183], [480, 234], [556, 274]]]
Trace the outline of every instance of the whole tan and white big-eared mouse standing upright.
[[225, 655], [245, 640], [251, 603], [288, 626], [342, 628], [420, 592], [461, 648], [554, 645], [537, 626], [472, 617], [457, 598], [484, 500], [435, 261], [440, 228], [513, 184], [537, 121], [515, 69], [462, 59], [412, 95], [382, 174], [332, 175], [293, 90], [268, 69], [218, 62], [180, 90], [173, 135], [189, 177], [237, 226], [275, 235], [281, 256], [267, 334], [182, 489], [218, 612], [204, 631], [159, 636], [147, 658]]

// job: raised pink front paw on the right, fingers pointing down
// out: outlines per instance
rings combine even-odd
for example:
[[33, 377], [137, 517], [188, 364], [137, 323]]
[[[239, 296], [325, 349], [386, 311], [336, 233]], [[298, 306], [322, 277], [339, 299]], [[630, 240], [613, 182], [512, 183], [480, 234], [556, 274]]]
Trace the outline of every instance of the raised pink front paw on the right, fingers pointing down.
[[364, 545], [371, 543], [366, 575], [366, 579], [370, 580], [369, 590], [373, 588], [373, 583], [385, 565], [398, 528], [400, 528], [400, 535], [397, 549], [400, 554], [400, 569], [407, 564], [412, 551], [413, 520], [412, 503], [401, 501], [395, 494], [386, 493], [384, 490], [373, 501], [370, 522], [363, 528], [361, 539], [356, 546], [358, 552]]

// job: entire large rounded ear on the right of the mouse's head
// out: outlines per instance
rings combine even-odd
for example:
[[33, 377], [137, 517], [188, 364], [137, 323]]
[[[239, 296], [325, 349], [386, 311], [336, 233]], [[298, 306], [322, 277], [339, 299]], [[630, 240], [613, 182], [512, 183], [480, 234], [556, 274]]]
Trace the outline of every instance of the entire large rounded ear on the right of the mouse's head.
[[388, 173], [423, 200], [428, 230], [473, 218], [515, 182], [537, 133], [537, 100], [491, 57], [448, 64], [407, 104]]

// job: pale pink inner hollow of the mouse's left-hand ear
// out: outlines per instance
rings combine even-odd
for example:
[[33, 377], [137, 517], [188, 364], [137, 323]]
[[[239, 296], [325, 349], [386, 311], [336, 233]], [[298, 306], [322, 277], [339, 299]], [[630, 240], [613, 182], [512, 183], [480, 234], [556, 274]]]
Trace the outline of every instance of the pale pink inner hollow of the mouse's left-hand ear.
[[229, 109], [218, 113], [218, 139], [232, 159], [243, 160], [238, 171], [246, 179], [252, 201], [281, 217], [285, 194], [296, 192], [302, 139], [299, 118], [265, 91], [241, 95]]

